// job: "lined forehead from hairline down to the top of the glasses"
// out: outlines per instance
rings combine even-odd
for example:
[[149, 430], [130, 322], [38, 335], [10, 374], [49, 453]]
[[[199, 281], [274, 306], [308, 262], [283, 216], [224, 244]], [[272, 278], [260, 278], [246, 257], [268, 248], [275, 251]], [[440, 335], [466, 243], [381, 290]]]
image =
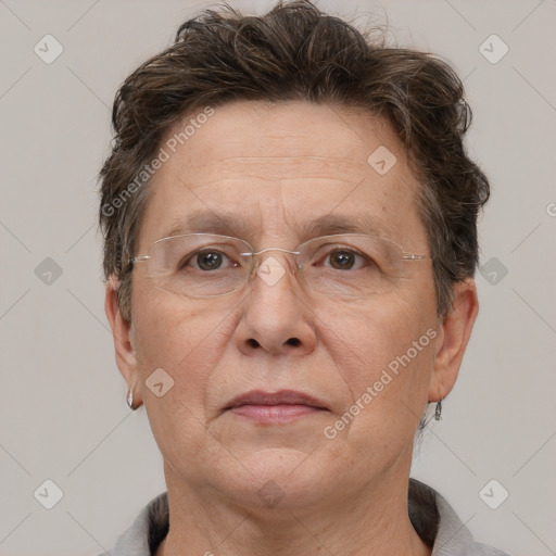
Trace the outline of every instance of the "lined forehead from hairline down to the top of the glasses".
[[176, 231], [301, 239], [326, 226], [349, 231], [350, 223], [399, 241], [422, 233], [419, 185], [384, 122], [303, 101], [211, 110], [164, 137], [167, 160], [150, 184], [141, 245]]

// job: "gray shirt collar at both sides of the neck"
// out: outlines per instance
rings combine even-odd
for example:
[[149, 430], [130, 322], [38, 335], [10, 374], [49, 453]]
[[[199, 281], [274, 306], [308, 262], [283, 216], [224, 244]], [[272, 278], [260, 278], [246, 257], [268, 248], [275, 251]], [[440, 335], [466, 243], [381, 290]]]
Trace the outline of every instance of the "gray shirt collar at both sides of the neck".
[[[432, 547], [432, 556], [508, 556], [476, 543], [448, 503], [430, 486], [409, 479], [408, 502], [412, 523]], [[168, 500], [163, 493], [141, 510], [115, 547], [101, 556], [153, 556], [168, 532]]]

